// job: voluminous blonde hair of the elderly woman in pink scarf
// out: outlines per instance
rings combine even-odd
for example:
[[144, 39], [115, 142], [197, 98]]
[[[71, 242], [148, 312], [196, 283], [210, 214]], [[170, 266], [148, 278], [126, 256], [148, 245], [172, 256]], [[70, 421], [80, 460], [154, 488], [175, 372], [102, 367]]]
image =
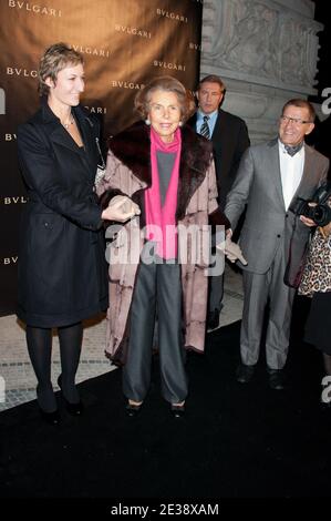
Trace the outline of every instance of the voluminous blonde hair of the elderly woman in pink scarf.
[[147, 118], [151, 96], [155, 91], [174, 92], [174, 94], [176, 94], [180, 106], [183, 122], [187, 121], [196, 111], [196, 104], [192, 92], [187, 90], [179, 80], [173, 76], [158, 76], [152, 80], [146, 86], [144, 86], [144, 89], [138, 91], [135, 96], [134, 106], [143, 119]]

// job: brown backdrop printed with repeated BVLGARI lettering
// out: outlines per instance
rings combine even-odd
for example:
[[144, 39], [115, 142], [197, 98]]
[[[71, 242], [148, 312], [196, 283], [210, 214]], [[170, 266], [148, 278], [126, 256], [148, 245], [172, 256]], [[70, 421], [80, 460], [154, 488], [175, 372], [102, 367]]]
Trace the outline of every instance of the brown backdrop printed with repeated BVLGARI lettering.
[[133, 99], [155, 75], [198, 80], [203, 0], [0, 1], [0, 315], [14, 311], [20, 208], [27, 203], [17, 127], [39, 106], [37, 69], [52, 43], [85, 59], [82, 104], [107, 137], [137, 119]]

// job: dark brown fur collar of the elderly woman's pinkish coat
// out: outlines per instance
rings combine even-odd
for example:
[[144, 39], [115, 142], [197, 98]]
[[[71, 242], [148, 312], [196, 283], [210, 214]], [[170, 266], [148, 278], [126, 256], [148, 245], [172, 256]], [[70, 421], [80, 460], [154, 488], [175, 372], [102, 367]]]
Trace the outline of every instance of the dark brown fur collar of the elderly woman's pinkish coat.
[[[138, 122], [110, 140], [108, 145], [133, 174], [147, 186], [152, 183], [151, 173], [151, 129]], [[185, 210], [196, 190], [203, 183], [213, 157], [213, 144], [190, 129], [182, 129], [182, 157], [176, 218], [185, 216]]]

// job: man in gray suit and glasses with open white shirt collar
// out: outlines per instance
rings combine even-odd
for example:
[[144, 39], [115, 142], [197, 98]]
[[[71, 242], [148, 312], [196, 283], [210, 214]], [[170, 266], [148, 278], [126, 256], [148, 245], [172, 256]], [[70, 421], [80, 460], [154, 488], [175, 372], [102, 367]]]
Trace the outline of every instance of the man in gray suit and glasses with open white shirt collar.
[[270, 303], [266, 338], [269, 385], [283, 388], [292, 303], [296, 289], [283, 282], [291, 241], [291, 258], [300, 262], [313, 221], [289, 210], [296, 198], [310, 200], [327, 176], [329, 161], [304, 143], [314, 127], [314, 110], [306, 100], [290, 100], [282, 109], [278, 139], [250, 146], [228, 194], [225, 213], [235, 229], [247, 205], [239, 244], [244, 269], [241, 364], [237, 380], [248, 382], [259, 357], [263, 314]]

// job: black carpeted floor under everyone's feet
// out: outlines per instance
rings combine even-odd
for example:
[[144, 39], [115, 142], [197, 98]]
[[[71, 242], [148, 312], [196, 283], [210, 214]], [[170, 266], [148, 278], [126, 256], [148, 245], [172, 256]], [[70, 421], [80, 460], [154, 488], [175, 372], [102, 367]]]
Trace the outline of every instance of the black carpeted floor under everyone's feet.
[[[35, 401], [0, 413], [2, 498], [292, 498], [330, 496], [331, 409], [319, 408], [321, 358], [294, 314], [288, 389], [268, 387], [263, 357], [237, 384], [239, 323], [188, 360], [189, 398], [174, 419], [157, 367], [141, 416], [124, 413], [121, 370], [80, 385], [82, 418], [39, 418]], [[157, 361], [157, 359], [155, 360]], [[157, 364], [155, 364], [157, 366]]]

